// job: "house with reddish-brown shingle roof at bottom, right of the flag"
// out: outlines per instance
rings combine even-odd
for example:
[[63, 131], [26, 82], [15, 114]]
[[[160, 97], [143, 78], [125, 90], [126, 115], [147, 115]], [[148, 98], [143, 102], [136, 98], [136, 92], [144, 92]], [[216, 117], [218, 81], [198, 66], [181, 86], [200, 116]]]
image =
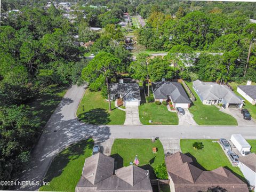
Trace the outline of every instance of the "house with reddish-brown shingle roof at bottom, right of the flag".
[[207, 191], [216, 187], [228, 192], [249, 191], [246, 183], [226, 168], [203, 171], [193, 164], [192, 158], [180, 152], [165, 157], [165, 164], [172, 192]]

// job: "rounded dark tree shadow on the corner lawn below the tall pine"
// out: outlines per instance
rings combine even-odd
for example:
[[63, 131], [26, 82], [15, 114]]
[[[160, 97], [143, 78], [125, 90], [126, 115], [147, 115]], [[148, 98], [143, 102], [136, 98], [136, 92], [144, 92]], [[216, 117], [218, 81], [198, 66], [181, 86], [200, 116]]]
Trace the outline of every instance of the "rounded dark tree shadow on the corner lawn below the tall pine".
[[85, 113], [79, 114], [78, 119], [92, 125], [106, 125], [110, 122], [109, 113], [105, 109], [91, 109]]

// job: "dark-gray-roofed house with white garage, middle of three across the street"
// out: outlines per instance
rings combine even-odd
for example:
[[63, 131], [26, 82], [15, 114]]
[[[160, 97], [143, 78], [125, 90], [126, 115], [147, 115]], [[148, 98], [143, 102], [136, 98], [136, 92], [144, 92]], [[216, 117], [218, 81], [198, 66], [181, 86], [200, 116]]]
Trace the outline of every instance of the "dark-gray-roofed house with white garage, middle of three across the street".
[[156, 101], [171, 100], [173, 107], [189, 108], [191, 105], [187, 93], [178, 82], [154, 82], [152, 89]]

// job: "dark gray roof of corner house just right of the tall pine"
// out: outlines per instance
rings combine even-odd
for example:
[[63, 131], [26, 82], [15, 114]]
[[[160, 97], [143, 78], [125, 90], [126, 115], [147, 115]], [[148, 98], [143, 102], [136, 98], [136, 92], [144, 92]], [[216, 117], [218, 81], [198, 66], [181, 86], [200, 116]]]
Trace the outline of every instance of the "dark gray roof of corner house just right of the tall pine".
[[110, 83], [109, 92], [111, 98], [116, 94], [122, 94], [124, 101], [133, 98], [141, 101], [140, 87], [138, 83]]

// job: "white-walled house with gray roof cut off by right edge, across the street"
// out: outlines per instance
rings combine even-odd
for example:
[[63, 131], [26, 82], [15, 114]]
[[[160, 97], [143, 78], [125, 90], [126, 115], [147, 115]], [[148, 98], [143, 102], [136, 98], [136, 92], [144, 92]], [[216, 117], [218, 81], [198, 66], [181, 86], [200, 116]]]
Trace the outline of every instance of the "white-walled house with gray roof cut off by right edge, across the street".
[[256, 85], [238, 85], [237, 92], [252, 105], [256, 104]]

